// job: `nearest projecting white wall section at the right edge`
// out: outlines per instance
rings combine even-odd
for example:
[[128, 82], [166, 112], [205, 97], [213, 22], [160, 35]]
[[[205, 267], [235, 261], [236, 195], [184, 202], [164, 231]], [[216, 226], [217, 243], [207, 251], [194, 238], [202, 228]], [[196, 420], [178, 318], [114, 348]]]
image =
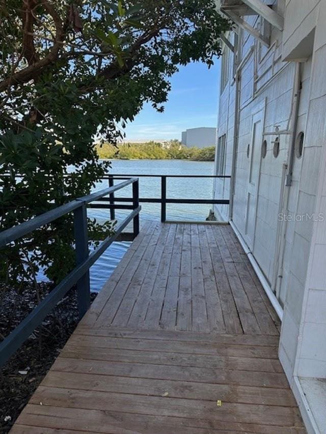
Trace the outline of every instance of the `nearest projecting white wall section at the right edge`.
[[289, 269], [293, 283], [284, 309], [280, 355], [289, 372], [326, 378], [326, 2], [318, 2], [313, 13], [312, 80], [296, 212], [324, 213], [324, 221], [295, 223]]

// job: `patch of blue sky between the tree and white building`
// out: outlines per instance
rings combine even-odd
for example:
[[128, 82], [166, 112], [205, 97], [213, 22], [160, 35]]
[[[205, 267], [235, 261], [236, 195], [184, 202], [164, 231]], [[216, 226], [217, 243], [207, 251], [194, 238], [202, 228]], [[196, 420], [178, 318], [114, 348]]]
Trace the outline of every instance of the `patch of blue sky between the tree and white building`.
[[164, 113], [146, 104], [127, 125], [126, 139], [181, 139], [181, 131], [187, 128], [216, 127], [220, 64], [216, 60], [210, 69], [202, 63], [180, 67], [171, 79], [172, 90]]

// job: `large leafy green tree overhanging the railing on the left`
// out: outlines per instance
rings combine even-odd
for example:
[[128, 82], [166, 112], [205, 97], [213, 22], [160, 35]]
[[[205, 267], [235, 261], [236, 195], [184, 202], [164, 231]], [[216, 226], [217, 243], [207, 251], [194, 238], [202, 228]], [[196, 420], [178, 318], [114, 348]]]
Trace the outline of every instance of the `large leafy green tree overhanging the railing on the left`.
[[[0, 22], [1, 229], [88, 194], [108, 167], [94, 137], [116, 142], [146, 101], [162, 111], [178, 65], [212, 65], [229, 28], [214, 0], [0, 0]], [[3, 279], [33, 279], [40, 265], [61, 279], [71, 216], [5, 254]]]

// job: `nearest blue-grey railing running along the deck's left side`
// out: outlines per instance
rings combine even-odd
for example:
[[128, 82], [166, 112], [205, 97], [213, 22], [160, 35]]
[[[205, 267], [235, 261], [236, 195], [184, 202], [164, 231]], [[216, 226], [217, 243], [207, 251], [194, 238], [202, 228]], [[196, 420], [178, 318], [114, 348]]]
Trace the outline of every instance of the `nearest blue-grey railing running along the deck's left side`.
[[[87, 234], [87, 207], [92, 207], [90, 202], [101, 200], [106, 195], [112, 197], [114, 192], [132, 184], [132, 197], [124, 199], [131, 201], [128, 207], [132, 212], [118, 225], [113, 236], [106, 237], [101, 244], [89, 254]], [[103, 208], [103, 206], [102, 206]], [[107, 207], [105, 207], [107, 208]], [[77, 286], [77, 302], [79, 318], [82, 318], [90, 306], [90, 275], [89, 269], [99, 256], [122, 233], [127, 224], [133, 220], [133, 237], [139, 233], [139, 180], [131, 178], [115, 186], [104, 188], [98, 192], [72, 200], [65, 205], [34, 217], [10, 229], [0, 233], [0, 248], [8, 243], [16, 241], [20, 237], [30, 234], [33, 230], [46, 225], [59, 217], [73, 212], [76, 267], [25, 317], [25, 319], [0, 343], [0, 366], [18, 350], [20, 345], [32, 334], [34, 329], [41, 324], [45, 316], [56, 306], [70, 288]]]

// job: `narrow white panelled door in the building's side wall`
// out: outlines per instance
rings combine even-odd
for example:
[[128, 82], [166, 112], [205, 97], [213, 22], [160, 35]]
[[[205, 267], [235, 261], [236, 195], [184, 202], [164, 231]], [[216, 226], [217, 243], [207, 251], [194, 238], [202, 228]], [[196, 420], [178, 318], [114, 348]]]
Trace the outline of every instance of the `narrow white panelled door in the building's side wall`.
[[253, 116], [251, 143], [249, 148], [249, 178], [246, 213], [246, 242], [251, 251], [254, 249], [257, 194], [260, 172], [261, 143], [263, 133], [264, 111], [261, 110]]

